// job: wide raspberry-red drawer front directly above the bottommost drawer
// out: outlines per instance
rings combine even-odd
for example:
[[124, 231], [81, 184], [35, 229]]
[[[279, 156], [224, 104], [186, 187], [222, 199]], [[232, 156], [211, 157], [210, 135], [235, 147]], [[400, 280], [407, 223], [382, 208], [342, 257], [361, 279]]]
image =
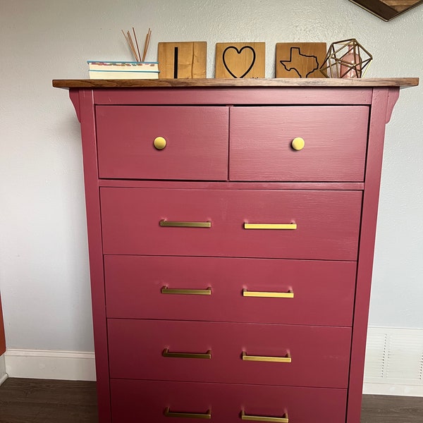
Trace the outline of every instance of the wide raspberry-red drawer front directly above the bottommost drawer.
[[109, 319], [108, 331], [112, 378], [326, 388], [348, 384], [350, 328]]

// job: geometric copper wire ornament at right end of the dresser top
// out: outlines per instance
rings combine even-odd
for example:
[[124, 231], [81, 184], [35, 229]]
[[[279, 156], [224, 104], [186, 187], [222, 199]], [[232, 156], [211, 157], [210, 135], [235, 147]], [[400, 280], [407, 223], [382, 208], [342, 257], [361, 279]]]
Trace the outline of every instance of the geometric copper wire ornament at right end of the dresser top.
[[330, 45], [319, 70], [326, 78], [362, 78], [372, 59], [357, 39], [343, 39]]

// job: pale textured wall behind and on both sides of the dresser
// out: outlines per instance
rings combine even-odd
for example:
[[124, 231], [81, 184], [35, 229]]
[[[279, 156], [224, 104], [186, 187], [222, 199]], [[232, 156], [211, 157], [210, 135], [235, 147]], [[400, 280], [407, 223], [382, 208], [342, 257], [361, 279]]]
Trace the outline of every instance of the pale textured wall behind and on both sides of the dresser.
[[[130, 60], [121, 29], [157, 42], [355, 37], [369, 77], [423, 73], [423, 6], [385, 23], [348, 0], [0, 0], [0, 289], [9, 348], [92, 350], [78, 121], [52, 79], [87, 59]], [[386, 134], [370, 324], [423, 327], [423, 81], [403, 90]]]

